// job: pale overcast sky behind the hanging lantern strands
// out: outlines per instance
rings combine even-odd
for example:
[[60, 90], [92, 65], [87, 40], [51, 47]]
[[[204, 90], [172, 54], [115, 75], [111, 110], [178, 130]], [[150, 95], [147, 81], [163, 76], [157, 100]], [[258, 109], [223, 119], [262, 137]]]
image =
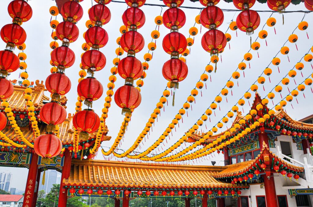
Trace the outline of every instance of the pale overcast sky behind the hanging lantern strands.
[[[7, 6], [10, 0], [2, 0], [1, 1], [1, 7], [0, 7], [0, 13], [1, 13], [1, 26], [8, 24], [12, 21], [12, 19], [9, 17], [7, 12]], [[95, 4], [95, 2], [93, 2]], [[147, 0], [147, 3], [155, 3], [155, 4], [162, 4], [162, 1], [157, 0]], [[27, 32], [27, 40], [26, 45], [27, 48], [24, 51], [27, 54], [27, 60], [26, 63], [28, 65], [27, 72], [29, 74], [29, 80], [35, 81], [36, 79], [39, 80], [45, 80], [46, 77], [50, 74], [50, 68], [49, 60], [50, 60], [50, 52], [52, 51], [49, 48], [49, 43], [52, 41], [52, 38], [50, 37], [52, 29], [49, 25], [50, 21], [50, 14], [49, 14], [49, 7], [55, 5], [54, 1], [29, 1], [29, 4], [33, 8], [33, 17], [30, 21], [23, 23], [23, 28]], [[78, 71], [80, 70], [80, 55], [83, 52], [81, 49], [81, 45], [84, 43], [84, 39], [82, 37], [83, 33], [87, 30], [85, 26], [85, 22], [88, 20], [88, 14], [87, 11], [91, 7], [91, 1], [85, 0], [81, 2], [82, 7], [84, 8], [84, 16], [82, 20], [80, 20], [77, 24], [77, 26], [80, 29], [80, 37], [77, 41], [70, 44], [70, 48], [75, 52], [76, 55], [76, 61], [75, 64], [70, 67], [69, 69], [66, 69], [65, 73], [72, 81], [72, 88], [70, 92], [66, 95], [69, 99], [67, 102], [67, 113], [74, 113], [75, 109], [75, 102], [77, 98], [77, 80], [79, 79]], [[115, 55], [115, 49], [118, 47], [116, 44], [116, 38], [121, 36], [119, 32], [119, 28], [122, 25], [121, 15], [127, 8], [127, 5], [125, 3], [116, 3], [111, 2], [107, 5], [110, 8], [112, 17], [111, 21], [104, 25], [103, 28], [108, 32], [109, 34], [109, 42], [104, 47], [101, 48], [100, 51], [102, 51], [106, 56], [106, 66], [103, 70], [96, 72], [95, 77], [100, 80], [100, 82], [103, 84], [104, 91], [106, 91], [106, 85], [108, 83], [108, 77], [110, 74], [110, 68], [113, 67], [112, 60], [116, 57]], [[202, 7], [199, 2], [192, 3], [188, 0], [185, 0], [183, 3], [183, 6], [190, 6], [190, 7]], [[217, 5], [220, 8], [223, 9], [235, 9], [233, 6], [233, 3], [226, 3], [224, 1], [221, 1]], [[145, 48], [141, 52], [136, 54], [136, 58], [143, 61], [143, 55], [148, 51], [147, 44], [151, 41], [150, 33], [152, 30], [155, 29], [156, 24], [154, 23], [154, 18], [157, 15], [160, 15], [161, 13], [161, 7], [158, 6], [143, 6], [141, 9], [146, 14], [146, 23], [145, 25], [138, 29], [138, 32], [140, 32], [143, 37], [145, 38]], [[162, 14], [167, 8], [163, 7]], [[269, 10], [267, 7], [267, 4], [260, 4], [259, 2], [256, 2], [254, 7], [252, 9], [255, 10]], [[186, 9], [182, 8], [182, 10], [185, 12], [187, 21], [185, 26], [183, 26], [179, 32], [184, 34], [186, 37], [189, 36], [188, 30], [191, 26], [194, 24], [194, 18], [199, 14], [199, 9]], [[289, 7], [286, 9], [287, 11], [295, 11], [295, 10], [306, 10], [303, 3], [300, 5], [292, 5], [290, 4]], [[219, 30], [225, 32], [228, 28], [229, 23], [236, 19], [239, 12], [224, 12], [224, 22], [223, 24], [218, 28]], [[262, 29], [263, 25], [265, 24], [268, 17], [272, 14], [272, 12], [259, 12], [259, 15], [261, 17], [261, 24], [259, 28], [254, 32], [254, 35], [252, 36], [252, 40], [254, 41], [257, 36], [258, 32]], [[256, 51], [251, 51], [253, 54], [253, 59], [250, 61], [251, 68], [247, 67], [247, 69], [243, 72], [240, 71], [240, 78], [238, 79], [238, 85], [237, 87], [237, 81], [233, 80], [235, 82], [235, 86], [232, 89], [233, 95], [231, 95], [230, 90], [229, 94], [227, 95], [227, 102], [225, 97], [223, 98], [223, 101], [219, 104], [220, 110], [215, 110], [215, 115], [211, 115], [211, 122], [206, 121], [206, 126], [203, 124], [202, 128], [200, 130], [203, 130], [203, 132], [208, 131], [211, 129], [223, 116], [226, 115], [226, 113], [231, 109], [231, 107], [237, 103], [238, 99], [241, 98], [244, 95], [244, 92], [246, 92], [251, 84], [253, 84], [256, 79], [259, 77], [259, 75], [262, 73], [265, 67], [267, 67], [272, 58], [276, 55], [278, 51], [280, 51], [280, 48], [283, 46], [285, 41], [287, 41], [288, 36], [292, 33], [292, 31], [295, 29], [295, 27], [298, 25], [298, 23], [302, 20], [304, 16], [304, 13], [285, 13], [285, 24], [282, 25], [282, 15], [278, 13], [274, 13], [272, 17], [275, 17], [277, 20], [277, 24], [275, 25], [276, 29], [276, 35], [274, 32], [274, 27], [268, 27], [264, 26], [264, 29], [268, 31], [268, 37], [267, 45], [265, 45], [265, 40], [258, 39], [260, 43], [260, 49], [259, 49], [259, 58]], [[289, 53], [289, 59], [290, 62], [287, 59], [286, 55], [279, 54], [277, 57], [281, 59], [280, 67], [280, 73], [278, 73], [277, 66], [271, 65], [270, 68], [272, 68], [273, 73], [270, 76], [271, 83], [269, 82], [269, 79], [266, 77], [266, 82], [263, 87], [259, 85], [259, 94], [264, 97], [266, 96], [270, 90], [276, 86], [276, 84], [279, 83], [279, 81], [288, 73], [290, 69], [293, 68], [295, 63], [297, 63], [302, 56], [305, 55], [305, 53], [310, 49], [312, 46], [312, 38], [313, 38], [313, 28], [310, 25], [312, 19], [312, 14], [308, 14], [305, 16], [306, 21], [309, 22], [309, 27], [307, 29], [308, 35], [310, 39], [307, 38], [305, 31], [300, 31], [298, 29], [295, 30], [295, 34], [298, 35], [299, 39], [297, 41], [297, 46], [299, 51], [296, 50], [296, 46], [294, 43], [287, 42], [286, 46], [290, 48]], [[59, 22], [62, 21], [61, 15], [57, 17]], [[200, 34], [200, 25], [196, 25], [196, 27], [199, 29], [199, 33], [194, 38], [194, 45], [191, 47], [191, 53], [187, 56], [187, 66], [188, 66], [188, 76], [187, 78], [180, 82], [179, 89], [177, 89], [177, 92], [175, 93], [175, 106], [172, 107], [172, 97], [169, 97], [169, 104], [168, 106], [165, 104], [165, 112], [163, 112], [163, 109], [161, 111], [161, 117], [158, 117], [158, 122], [155, 123], [155, 126], [153, 126], [153, 130], [149, 134], [149, 138], [146, 137], [140, 144], [141, 150], [140, 152], [146, 150], [151, 144], [153, 144], [158, 137], [163, 133], [165, 128], [168, 126], [169, 123], [171, 123], [172, 119], [174, 118], [175, 114], [178, 113], [178, 110], [182, 107], [182, 104], [186, 101], [187, 97], [190, 95], [191, 89], [195, 87], [196, 82], [199, 80], [200, 75], [203, 73], [205, 66], [209, 63], [210, 55], [209, 53], [205, 52], [201, 46], [201, 37], [204, 34], [204, 32], [208, 31], [208, 29], [202, 27], [202, 32]], [[156, 51], [153, 52], [153, 59], [149, 62], [149, 70], [146, 71], [147, 77], [144, 79], [144, 86], [141, 88], [141, 96], [142, 101], [140, 106], [135, 110], [135, 112], [132, 115], [131, 123], [129, 124], [129, 127], [127, 129], [126, 135], [123, 138], [121, 142], [121, 149], [127, 150], [136, 140], [138, 135], [141, 133], [143, 128], [145, 127], [146, 122], [148, 121], [148, 118], [150, 117], [150, 114], [153, 112], [153, 109], [156, 107], [156, 103], [159, 101], [159, 98], [162, 96], [162, 92], [166, 87], [167, 80], [165, 80], [162, 76], [162, 65], [165, 61], [170, 59], [170, 55], [166, 54], [162, 49], [162, 39], [163, 37], [169, 32], [169, 29], [165, 28], [165, 26], [160, 26], [160, 33], [161, 37], [156, 40]], [[173, 143], [175, 143], [182, 135], [186, 132], [186, 130], [198, 120], [198, 118], [201, 117], [201, 115], [205, 112], [205, 109], [208, 108], [210, 103], [214, 100], [215, 96], [223, 89], [224, 85], [226, 84], [227, 80], [231, 77], [231, 74], [233, 71], [235, 71], [238, 67], [238, 63], [242, 61], [243, 55], [249, 51], [250, 49], [250, 38], [245, 34], [245, 32], [237, 31], [230, 31], [228, 30], [228, 33], [231, 34], [232, 40], [230, 43], [230, 49], [227, 44], [225, 51], [222, 53], [220, 57], [220, 61], [217, 65], [217, 72], [211, 73], [212, 82], [210, 79], [206, 82], [207, 89], [205, 87], [202, 89], [202, 97], [200, 95], [200, 91], [198, 96], [196, 97], [195, 103], [192, 103], [192, 110], [188, 109], [188, 117], [187, 115], [183, 116], [183, 123], [179, 122], [179, 128], [176, 127], [176, 130], [173, 129], [172, 134], [170, 134], [169, 137], [167, 137], [166, 141], [164, 141], [165, 146], [161, 144], [162, 148], [165, 150], [169, 146], [171, 146]], [[61, 42], [59, 41], [59, 45], [61, 45]], [[0, 47], [5, 48], [5, 44], [3, 41], [0, 41]], [[18, 54], [18, 50], [15, 50], [15, 53]], [[126, 53], [122, 57], [125, 57]], [[222, 61], [221, 61], [222, 60]], [[295, 77], [295, 82], [297, 84], [300, 84], [307, 76], [309, 76], [312, 73], [311, 65], [307, 62], [304, 62], [305, 67], [302, 70], [303, 77], [300, 74], [300, 71], [297, 71], [298, 75]], [[248, 65], [248, 63], [247, 63]], [[14, 72], [12, 75], [9, 76], [10, 79], [18, 79], [20, 71]], [[119, 75], [116, 76], [117, 81], [115, 82], [115, 90], [122, 86], [124, 84], [124, 79], [122, 79]], [[288, 85], [289, 89], [292, 90], [296, 87], [294, 81], [290, 78], [290, 84]], [[251, 91], [250, 91], [251, 92]], [[285, 97], [288, 94], [288, 89], [286, 86], [283, 87], [282, 96]], [[290, 103], [285, 107], [285, 110], [287, 113], [294, 119], [300, 119], [303, 117], [306, 117], [312, 113], [311, 111], [311, 101], [313, 100], [312, 92], [310, 87], [306, 87], [305, 91], [305, 98], [302, 94], [302, 92], [299, 93], [299, 96], [297, 97], [298, 103], [294, 100], [292, 102], [292, 106]], [[46, 93], [46, 95], [49, 96], [49, 93]], [[280, 95], [275, 94], [275, 99], [273, 99], [273, 103], [276, 104], [280, 101]], [[105, 98], [105, 92], [104, 95], [101, 97], [100, 100], [97, 100], [93, 103], [93, 109], [98, 114], [101, 114], [101, 109], [103, 108]], [[250, 104], [253, 101], [250, 99]], [[272, 108], [274, 105], [269, 102], [269, 107]], [[244, 108], [239, 107], [240, 110], [244, 110], [244, 113], [247, 113], [249, 111], [249, 103], [246, 101], [246, 104], [244, 105]], [[107, 118], [107, 126], [109, 128], [109, 136], [112, 136], [112, 139], [107, 142], [103, 142], [101, 146], [103, 147], [110, 147], [112, 143], [115, 140], [115, 137], [117, 136], [118, 131], [120, 130], [121, 123], [123, 121], [123, 116], [121, 115], [121, 108], [117, 107], [115, 102], [111, 102], [111, 108], [108, 113]], [[227, 124], [224, 124], [224, 128], [230, 127], [231, 122], [229, 121]], [[187, 144], [188, 146], [189, 144]], [[162, 152], [162, 148], [159, 147], [156, 152]], [[181, 148], [178, 148], [179, 150], [182, 150], [182, 148], [185, 148], [185, 144], [182, 144]], [[104, 148], [105, 150], [108, 150], [108, 148]], [[121, 151], [118, 151], [121, 153]], [[178, 152], [178, 150], [177, 150]], [[188, 161], [185, 162], [186, 164], [202, 164], [202, 165], [211, 165], [210, 161], [218, 161], [218, 165], [223, 165], [222, 155], [219, 156], [217, 153], [216, 155], [203, 157], [199, 161]], [[103, 157], [102, 153], [99, 151], [97, 159], [111, 159], [112, 157]], [[121, 159], [124, 161], [127, 161], [127, 159]], [[27, 169], [18, 169], [18, 168], [5, 168], [0, 167], [0, 170], [9, 170], [13, 173], [13, 181], [11, 187], [16, 187], [18, 189], [23, 189], [25, 187], [25, 182], [27, 178]]]

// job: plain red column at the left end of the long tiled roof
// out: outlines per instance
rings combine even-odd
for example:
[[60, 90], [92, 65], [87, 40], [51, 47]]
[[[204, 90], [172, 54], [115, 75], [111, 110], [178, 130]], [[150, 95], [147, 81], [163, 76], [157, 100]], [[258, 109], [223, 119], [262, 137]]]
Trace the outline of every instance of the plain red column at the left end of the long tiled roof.
[[61, 175], [61, 183], [60, 183], [58, 207], [66, 207], [68, 189], [64, 188], [63, 179], [69, 178], [69, 173], [71, 171], [71, 161], [72, 161], [72, 152], [69, 152], [68, 149], [65, 149], [64, 162], [63, 162], [62, 175]]

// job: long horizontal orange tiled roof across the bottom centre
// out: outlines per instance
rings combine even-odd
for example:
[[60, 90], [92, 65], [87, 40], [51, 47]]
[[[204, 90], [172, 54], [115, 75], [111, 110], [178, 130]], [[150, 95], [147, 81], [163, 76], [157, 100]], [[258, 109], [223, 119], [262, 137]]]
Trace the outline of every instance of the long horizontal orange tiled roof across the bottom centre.
[[65, 185], [124, 188], [245, 188], [213, 178], [224, 166], [164, 166], [118, 161], [73, 160]]

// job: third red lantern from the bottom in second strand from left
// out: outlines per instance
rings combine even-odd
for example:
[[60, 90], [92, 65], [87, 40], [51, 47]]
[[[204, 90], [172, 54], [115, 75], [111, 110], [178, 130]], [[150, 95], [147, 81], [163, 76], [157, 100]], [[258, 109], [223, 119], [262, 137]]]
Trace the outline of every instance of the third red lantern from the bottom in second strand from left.
[[52, 100], [59, 100], [60, 95], [67, 94], [71, 89], [71, 81], [62, 72], [56, 72], [49, 75], [46, 79], [45, 86], [53, 94]]

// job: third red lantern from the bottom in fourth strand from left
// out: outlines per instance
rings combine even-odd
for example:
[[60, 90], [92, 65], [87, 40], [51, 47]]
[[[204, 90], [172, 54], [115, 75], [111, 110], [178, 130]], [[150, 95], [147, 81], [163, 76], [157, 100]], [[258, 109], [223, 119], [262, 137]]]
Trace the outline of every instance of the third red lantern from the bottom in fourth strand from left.
[[121, 48], [128, 54], [134, 55], [145, 46], [143, 36], [137, 31], [127, 31], [120, 39]]

